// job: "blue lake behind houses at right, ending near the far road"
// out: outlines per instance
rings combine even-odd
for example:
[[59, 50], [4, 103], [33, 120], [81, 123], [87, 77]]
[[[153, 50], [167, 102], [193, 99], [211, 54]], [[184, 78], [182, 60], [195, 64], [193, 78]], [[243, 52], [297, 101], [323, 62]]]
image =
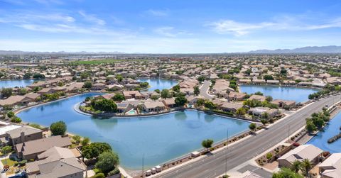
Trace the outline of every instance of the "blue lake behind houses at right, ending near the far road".
[[240, 91], [247, 94], [254, 94], [261, 91], [264, 96], [272, 96], [273, 99], [286, 99], [298, 102], [308, 101], [309, 94], [313, 94], [319, 89], [308, 89], [300, 87], [279, 87], [271, 85], [241, 85]]

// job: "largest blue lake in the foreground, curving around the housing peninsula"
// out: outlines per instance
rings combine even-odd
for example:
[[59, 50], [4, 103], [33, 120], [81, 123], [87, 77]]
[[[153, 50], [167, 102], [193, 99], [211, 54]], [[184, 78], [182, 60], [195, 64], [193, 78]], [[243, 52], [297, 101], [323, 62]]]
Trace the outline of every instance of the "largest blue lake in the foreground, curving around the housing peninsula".
[[89, 137], [92, 142], [107, 142], [119, 154], [121, 165], [141, 169], [159, 165], [201, 148], [204, 139], [223, 140], [248, 130], [249, 123], [199, 111], [180, 111], [144, 118], [99, 119], [74, 111], [75, 104], [95, 93], [73, 96], [28, 109], [18, 116], [28, 123], [50, 126], [65, 121], [70, 133]]

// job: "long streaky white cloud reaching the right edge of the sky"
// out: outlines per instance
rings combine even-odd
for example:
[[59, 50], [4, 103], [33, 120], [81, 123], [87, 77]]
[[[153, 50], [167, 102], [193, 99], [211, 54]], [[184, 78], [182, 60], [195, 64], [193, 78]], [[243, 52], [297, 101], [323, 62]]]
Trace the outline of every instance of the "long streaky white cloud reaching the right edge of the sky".
[[341, 28], [341, 18], [323, 20], [319, 24], [308, 23], [308, 20], [295, 16], [280, 16], [272, 21], [261, 23], [242, 23], [232, 20], [222, 20], [209, 23], [212, 29], [219, 34], [231, 33], [235, 36], [246, 35], [257, 30], [318, 30], [324, 28]]

